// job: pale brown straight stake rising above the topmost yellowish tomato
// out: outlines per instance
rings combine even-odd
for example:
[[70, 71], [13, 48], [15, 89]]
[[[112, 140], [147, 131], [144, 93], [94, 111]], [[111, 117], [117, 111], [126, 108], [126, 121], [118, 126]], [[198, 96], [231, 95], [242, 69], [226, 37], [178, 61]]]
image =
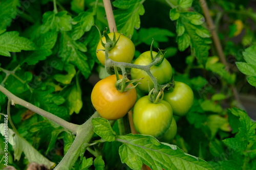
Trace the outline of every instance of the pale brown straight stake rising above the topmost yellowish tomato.
[[106, 12], [106, 18], [108, 19], [108, 24], [110, 28], [110, 32], [117, 32], [116, 29], [116, 21], [114, 18], [112, 6], [110, 0], [103, 0], [105, 12]]

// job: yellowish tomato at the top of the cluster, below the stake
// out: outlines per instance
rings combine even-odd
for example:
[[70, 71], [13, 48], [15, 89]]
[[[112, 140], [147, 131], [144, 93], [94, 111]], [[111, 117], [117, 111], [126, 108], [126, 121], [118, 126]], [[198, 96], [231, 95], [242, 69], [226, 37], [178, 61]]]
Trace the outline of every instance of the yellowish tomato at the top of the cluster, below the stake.
[[[117, 62], [125, 62], [131, 63], [135, 53], [135, 46], [131, 39], [121, 35], [120, 33], [116, 34], [116, 40], [118, 39], [119, 35], [120, 38], [116, 43], [116, 46], [109, 51], [109, 58], [113, 61]], [[108, 34], [110, 39], [113, 39], [114, 33]], [[102, 37], [101, 40], [106, 43], [105, 37]], [[102, 49], [105, 50], [105, 47], [102, 46], [101, 42], [98, 43], [97, 50]], [[96, 52], [96, 56], [101, 64], [105, 65], [105, 52], [98, 51]]]

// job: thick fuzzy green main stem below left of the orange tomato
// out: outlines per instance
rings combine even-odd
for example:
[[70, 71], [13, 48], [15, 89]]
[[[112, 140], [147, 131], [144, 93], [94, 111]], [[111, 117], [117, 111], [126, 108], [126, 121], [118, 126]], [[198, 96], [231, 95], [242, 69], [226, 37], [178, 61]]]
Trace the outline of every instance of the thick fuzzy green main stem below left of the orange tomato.
[[[54, 170], [69, 170], [74, 165], [75, 161], [80, 155], [81, 149], [84, 151], [89, 146], [89, 141], [91, 140], [94, 131], [92, 125], [92, 119], [100, 117], [98, 112], [95, 112], [86, 123], [79, 125], [77, 129], [77, 135], [72, 143], [67, 154], [62, 158], [59, 164], [54, 168]], [[83, 153], [82, 153], [83, 154]]]

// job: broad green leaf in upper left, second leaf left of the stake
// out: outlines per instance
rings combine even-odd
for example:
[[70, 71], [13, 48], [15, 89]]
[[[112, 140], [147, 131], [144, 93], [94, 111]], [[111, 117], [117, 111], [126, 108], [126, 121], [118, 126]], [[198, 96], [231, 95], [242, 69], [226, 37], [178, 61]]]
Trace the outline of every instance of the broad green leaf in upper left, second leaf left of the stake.
[[67, 15], [67, 11], [61, 11], [55, 14], [53, 11], [48, 11], [42, 16], [43, 33], [52, 31], [70, 31], [72, 30], [72, 17]]

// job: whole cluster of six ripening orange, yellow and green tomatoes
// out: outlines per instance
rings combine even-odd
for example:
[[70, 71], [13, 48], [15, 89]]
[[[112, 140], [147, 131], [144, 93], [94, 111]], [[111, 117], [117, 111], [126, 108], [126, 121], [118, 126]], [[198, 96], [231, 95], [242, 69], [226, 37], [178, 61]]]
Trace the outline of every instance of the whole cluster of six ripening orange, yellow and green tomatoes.
[[[109, 37], [113, 37], [110, 33]], [[135, 53], [133, 42], [119, 33], [118, 42], [109, 51], [109, 58], [117, 62], [131, 63]], [[105, 38], [102, 37], [105, 43]], [[105, 64], [104, 46], [100, 41], [97, 47], [97, 57], [99, 61]], [[162, 53], [160, 54], [162, 55]], [[136, 65], [151, 64], [158, 53], [148, 51], [142, 53], [133, 63]], [[160, 58], [163, 56], [160, 56]], [[136, 89], [132, 84], [127, 85], [128, 91], [120, 92], [116, 86], [117, 76], [112, 75], [100, 80], [93, 88], [91, 99], [92, 104], [98, 113], [106, 119], [114, 120], [123, 117], [133, 108], [134, 127], [138, 133], [152, 135], [163, 142], [170, 142], [177, 133], [176, 120], [173, 115], [184, 116], [189, 111], [194, 101], [194, 94], [191, 88], [182, 82], [174, 81], [173, 69], [170, 63], [165, 59], [150, 67], [151, 74], [155, 77], [159, 86], [167, 86], [159, 92], [159, 98], [151, 101], [151, 93], [146, 95], [149, 90], [154, 88], [152, 77], [142, 69], [131, 68], [132, 79], [140, 79], [136, 82], [136, 89], [144, 93], [137, 100]], [[116, 72], [117, 75], [117, 72]], [[123, 76], [119, 75], [122, 79]], [[126, 81], [127, 78], [125, 79]], [[124, 82], [125, 84], [125, 82]], [[156, 84], [156, 83], [155, 83]]]

